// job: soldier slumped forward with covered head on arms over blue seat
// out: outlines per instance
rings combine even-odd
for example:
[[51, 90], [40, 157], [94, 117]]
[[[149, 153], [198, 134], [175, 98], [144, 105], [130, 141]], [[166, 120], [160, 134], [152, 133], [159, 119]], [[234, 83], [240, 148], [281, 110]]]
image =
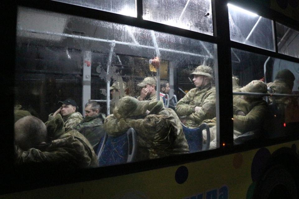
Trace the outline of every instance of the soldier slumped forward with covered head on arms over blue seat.
[[119, 136], [130, 127], [137, 132], [137, 161], [189, 152], [178, 116], [160, 101], [122, 98], [104, 128], [109, 135]]

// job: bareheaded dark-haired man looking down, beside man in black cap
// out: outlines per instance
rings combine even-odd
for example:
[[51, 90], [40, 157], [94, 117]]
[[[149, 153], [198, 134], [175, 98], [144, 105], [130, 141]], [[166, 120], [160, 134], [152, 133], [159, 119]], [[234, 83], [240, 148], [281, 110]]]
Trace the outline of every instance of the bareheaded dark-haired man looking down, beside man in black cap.
[[97, 101], [89, 101], [85, 105], [85, 118], [74, 127], [80, 132], [95, 149], [105, 135], [103, 123], [106, 116], [100, 113], [101, 107]]

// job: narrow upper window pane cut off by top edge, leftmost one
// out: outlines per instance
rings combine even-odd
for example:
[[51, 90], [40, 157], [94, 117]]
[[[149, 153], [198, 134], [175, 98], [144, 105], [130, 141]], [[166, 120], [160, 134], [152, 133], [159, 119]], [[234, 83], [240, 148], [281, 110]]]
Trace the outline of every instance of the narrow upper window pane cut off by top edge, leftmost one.
[[113, 12], [126, 16], [137, 17], [135, 0], [111, 0], [111, 1], [94, 1], [94, 0], [53, 0], [73, 5], [89, 7], [97, 10]]

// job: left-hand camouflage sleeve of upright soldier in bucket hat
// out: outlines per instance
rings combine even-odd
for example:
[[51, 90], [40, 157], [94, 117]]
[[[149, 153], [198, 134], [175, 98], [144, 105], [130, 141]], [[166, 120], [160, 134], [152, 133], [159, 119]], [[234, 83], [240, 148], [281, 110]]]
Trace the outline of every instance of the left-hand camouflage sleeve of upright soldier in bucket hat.
[[193, 91], [190, 90], [182, 99], [180, 99], [175, 107], [175, 112], [178, 116], [190, 115], [194, 112], [194, 105], [189, 105], [192, 101], [191, 93]]

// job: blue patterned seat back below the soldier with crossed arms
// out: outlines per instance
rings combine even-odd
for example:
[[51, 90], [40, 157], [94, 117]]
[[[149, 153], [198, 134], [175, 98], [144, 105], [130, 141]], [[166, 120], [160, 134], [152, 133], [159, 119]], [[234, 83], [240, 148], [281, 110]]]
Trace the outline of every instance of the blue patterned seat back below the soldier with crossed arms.
[[[206, 123], [202, 123], [197, 128], [188, 128], [183, 125], [183, 132], [185, 134], [190, 153], [208, 150], [210, 148], [211, 136], [210, 128]], [[203, 144], [202, 130], [206, 129], [206, 144]]]

